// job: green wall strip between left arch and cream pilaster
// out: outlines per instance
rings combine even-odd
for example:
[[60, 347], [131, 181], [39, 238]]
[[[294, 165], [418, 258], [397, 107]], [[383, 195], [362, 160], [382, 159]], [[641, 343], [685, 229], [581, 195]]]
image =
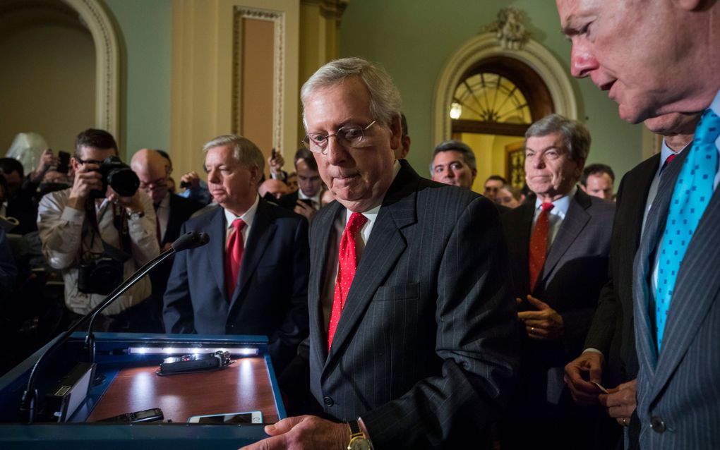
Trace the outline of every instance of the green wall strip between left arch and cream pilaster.
[[125, 46], [125, 109], [118, 140], [126, 161], [140, 148], [169, 150], [171, 0], [105, 0]]

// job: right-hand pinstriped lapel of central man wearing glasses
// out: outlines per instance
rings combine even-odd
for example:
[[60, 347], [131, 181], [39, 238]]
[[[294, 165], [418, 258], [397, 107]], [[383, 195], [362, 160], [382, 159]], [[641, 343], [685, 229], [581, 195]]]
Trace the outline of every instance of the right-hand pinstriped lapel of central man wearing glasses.
[[323, 373], [342, 352], [346, 341], [354, 335], [356, 325], [361, 321], [377, 288], [390, 274], [408, 245], [402, 235], [402, 228], [418, 220], [415, 210], [418, 179], [415, 171], [403, 165], [388, 189], [355, 272]]

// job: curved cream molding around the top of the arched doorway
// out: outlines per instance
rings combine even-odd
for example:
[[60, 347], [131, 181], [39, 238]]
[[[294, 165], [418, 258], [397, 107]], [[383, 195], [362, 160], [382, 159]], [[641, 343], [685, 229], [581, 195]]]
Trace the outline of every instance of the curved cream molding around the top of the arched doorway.
[[531, 38], [528, 38], [523, 48], [510, 50], [500, 45], [495, 33], [486, 32], [465, 42], [451, 55], [441, 71], [433, 97], [432, 142], [450, 138], [451, 118], [448, 112], [455, 88], [463, 74], [477, 62], [498, 56], [514, 58], [530, 66], [548, 87], [554, 111], [577, 119], [577, 101], [570, 76], [549, 50]]

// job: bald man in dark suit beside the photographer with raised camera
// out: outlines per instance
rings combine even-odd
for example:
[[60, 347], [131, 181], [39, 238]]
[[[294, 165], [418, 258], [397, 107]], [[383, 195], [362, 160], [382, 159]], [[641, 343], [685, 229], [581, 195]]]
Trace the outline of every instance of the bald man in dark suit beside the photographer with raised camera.
[[[153, 200], [157, 217], [156, 237], [161, 251], [164, 251], [179, 238], [182, 224], [202, 205], [170, 193], [168, 179], [172, 172], [171, 163], [157, 150], [149, 148], [138, 150], [132, 156], [130, 167], [140, 179], [140, 189]], [[171, 258], [150, 272], [150, 280], [153, 282], [152, 309], [153, 314], [156, 314], [154, 323], [158, 333], [163, 330], [161, 326], [163, 294], [172, 266]]]

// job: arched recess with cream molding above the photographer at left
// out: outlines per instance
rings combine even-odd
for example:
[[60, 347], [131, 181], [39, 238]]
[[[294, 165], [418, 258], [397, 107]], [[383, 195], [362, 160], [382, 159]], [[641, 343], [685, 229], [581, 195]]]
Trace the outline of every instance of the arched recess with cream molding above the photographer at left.
[[[120, 135], [120, 46], [97, 0], [6, 0], [0, 4], [4, 117], [0, 143], [17, 132], [72, 150], [87, 127]], [[12, 69], [12, 70], [10, 70]]]

